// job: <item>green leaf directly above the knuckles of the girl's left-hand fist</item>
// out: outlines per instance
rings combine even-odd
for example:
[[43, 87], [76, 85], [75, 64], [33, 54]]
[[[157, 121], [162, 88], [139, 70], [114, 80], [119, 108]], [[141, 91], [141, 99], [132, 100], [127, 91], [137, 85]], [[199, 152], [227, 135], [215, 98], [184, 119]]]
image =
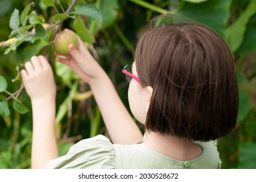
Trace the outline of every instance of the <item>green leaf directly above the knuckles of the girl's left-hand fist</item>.
[[30, 60], [31, 57], [37, 55], [40, 50], [44, 47], [48, 46], [50, 43], [46, 40], [39, 40], [34, 44], [28, 45], [25, 47], [24, 51], [22, 52], [24, 55], [24, 60]]

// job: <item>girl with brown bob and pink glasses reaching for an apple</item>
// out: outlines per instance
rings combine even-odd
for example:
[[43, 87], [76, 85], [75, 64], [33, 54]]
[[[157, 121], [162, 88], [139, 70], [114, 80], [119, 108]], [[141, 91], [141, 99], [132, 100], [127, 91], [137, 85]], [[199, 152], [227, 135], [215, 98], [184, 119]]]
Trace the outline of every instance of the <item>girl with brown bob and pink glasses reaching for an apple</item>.
[[[111, 142], [82, 140], [58, 157], [54, 133], [56, 85], [43, 56], [32, 57], [22, 80], [33, 109], [32, 168], [220, 168], [216, 139], [238, 114], [232, 53], [216, 32], [197, 23], [155, 18], [140, 36], [135, 61], [123, 68], [129, 105], [146, 129], [143, 139], [112, 82], [79, 39], [69, 66], [91, 86]], [[53, 159], [53, 160], [52, 160]]]

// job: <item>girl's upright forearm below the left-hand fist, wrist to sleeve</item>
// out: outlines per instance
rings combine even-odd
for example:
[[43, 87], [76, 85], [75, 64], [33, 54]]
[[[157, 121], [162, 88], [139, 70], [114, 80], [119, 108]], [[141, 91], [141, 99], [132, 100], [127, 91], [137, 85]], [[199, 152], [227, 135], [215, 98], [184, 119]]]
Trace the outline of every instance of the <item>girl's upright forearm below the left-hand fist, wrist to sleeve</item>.
[[55, 99], [32, 101], [33, 140], [31, 168], [44, 168], [51, 159], [59, 157], [55, 135]]

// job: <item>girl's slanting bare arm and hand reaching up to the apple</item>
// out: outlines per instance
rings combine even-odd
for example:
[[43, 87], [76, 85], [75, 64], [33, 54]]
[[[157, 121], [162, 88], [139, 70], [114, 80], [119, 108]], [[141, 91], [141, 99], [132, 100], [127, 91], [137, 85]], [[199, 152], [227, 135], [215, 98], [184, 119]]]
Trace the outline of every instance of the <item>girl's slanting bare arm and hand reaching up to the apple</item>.
[[110, 78], [93, 59], [84, 42], [80, 38], [78, 41], [78, 49], [74, 45], [69, 45], [70, 55], [65, 55], [67, 59], [56, 60], [69, 66], [91, 86], [112, 142], [133, 144], [142, 140], [140, 129], [123, 105]]

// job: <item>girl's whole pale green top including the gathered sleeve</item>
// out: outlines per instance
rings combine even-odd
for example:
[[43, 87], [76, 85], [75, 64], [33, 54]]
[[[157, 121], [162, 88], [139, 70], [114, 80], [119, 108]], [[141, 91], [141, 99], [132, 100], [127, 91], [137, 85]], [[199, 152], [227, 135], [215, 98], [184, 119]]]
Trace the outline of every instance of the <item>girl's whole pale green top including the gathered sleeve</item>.
[[189, 161], [179, 161], [144, 144], [112, 144], [106, 136], [97, 135], [74, 144], [66, 155], [48, 162], [46, 168], [221, 168], [217, 142], [196, 143], [202, 148], [202, 154]]

